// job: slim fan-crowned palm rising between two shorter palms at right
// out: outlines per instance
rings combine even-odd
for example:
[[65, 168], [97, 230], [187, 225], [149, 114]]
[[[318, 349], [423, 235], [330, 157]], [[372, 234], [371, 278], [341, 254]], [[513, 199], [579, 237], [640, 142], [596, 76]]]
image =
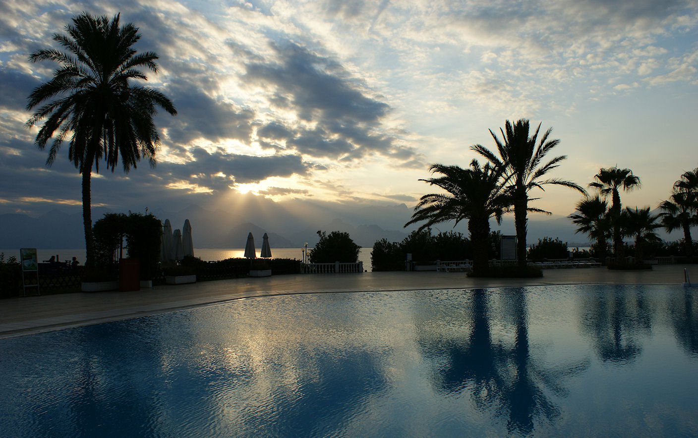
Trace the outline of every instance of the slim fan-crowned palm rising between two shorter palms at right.
[[616, 263], [623, 263], [623, 236], [621, 235], [621, 195], [620, 190], [630, 192], [634, 188], [639, 188], [639, 177], [632, 174], [630, 169], [618, 169], [618, 167], [608, 167], [599, 169], [599, 173], [594, 175], [593, 183], [589, 187], [596, 188], [599, 192], [608, 196], [611, 195], [611, 209], [609, 216], [613, 225], [613, 250], [616, 255]]

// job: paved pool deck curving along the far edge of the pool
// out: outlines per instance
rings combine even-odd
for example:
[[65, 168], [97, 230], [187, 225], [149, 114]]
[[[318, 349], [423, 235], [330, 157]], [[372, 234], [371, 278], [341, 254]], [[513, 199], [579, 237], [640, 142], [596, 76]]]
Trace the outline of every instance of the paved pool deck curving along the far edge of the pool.
[[651, 271], [606, 268], [547, 269], [542, 278], [468, 278], [466, 273], [366, 272], [274, 275], [165, 285], [137, 292], [81, 292], [0, 300], [0, 339], [154, 315], [260, 296], [533, 285], [681, 285], [683, 270], [698, 282], [698, 265]]

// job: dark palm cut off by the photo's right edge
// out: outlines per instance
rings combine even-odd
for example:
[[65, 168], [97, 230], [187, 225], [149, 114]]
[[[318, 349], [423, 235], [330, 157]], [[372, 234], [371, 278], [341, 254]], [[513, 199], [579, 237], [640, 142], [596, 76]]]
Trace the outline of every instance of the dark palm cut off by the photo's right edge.
[[674, 183], [671, 196], [659, 204], [662, 210], [660, 219], [667, 232], [683, 230], [684, 251], [686, 257], [693, 256], [691, 227], [698, 225], [698, 169], [685, 172]]

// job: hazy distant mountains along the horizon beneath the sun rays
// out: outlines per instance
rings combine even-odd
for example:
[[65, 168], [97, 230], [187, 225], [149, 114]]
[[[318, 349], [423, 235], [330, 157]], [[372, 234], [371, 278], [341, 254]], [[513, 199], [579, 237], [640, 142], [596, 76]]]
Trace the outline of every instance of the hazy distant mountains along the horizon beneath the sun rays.
[[[151, 211], [161, 220], [170, 219], [173, 229], [181, 229], [184, 220], [191, 222], [196, 248], [242, 248], [247, 233], [252, 232], [255, 243], [261, 246], [267, 232], [272, 248], [301, 248], [304, 243], [315, 246], [318, 230], [348, 232], [360, 246], [371, 247], [380, 239], [399, 242], [414, 229], [403, 229], [412, 210], [405, 204], [376, 204], [355, 206], [334, 202], [272, 202], [254, 195], [241, 195], [228, 205], [230, 211], [209, 210], [198, 205], [183, 206], [174, 211]], [[105, 207], [92, 209], [93, 220], [112, 212]], [[655, 213], [655, 212], [653, 212]], [[491, 221], [493, 231], [514, 234], [514, 218], [504, 217], [502, 225]], [[69, 213], [54, 209], [38, 218], [23, 214], [0, 215], [0, 248], [82, 248], [82, 212], [80, 207]], [[452, 224], [440, 224], [433, 232], [452, 230]], [[544, 236], [558, 237], [570, 246], [588, 246], [586, 235], [574, 234], [574, 225], [565, 216], [532, 215], [528, 220], [528, 243], [536, 243]], [[455, 231], [468, 234], [467, 222], [461, 222]], [[681, 239], [681, 233], [671, 236], [659, 230], [665, 240]], [[630, 241], [630, 239], [628, 239]]]

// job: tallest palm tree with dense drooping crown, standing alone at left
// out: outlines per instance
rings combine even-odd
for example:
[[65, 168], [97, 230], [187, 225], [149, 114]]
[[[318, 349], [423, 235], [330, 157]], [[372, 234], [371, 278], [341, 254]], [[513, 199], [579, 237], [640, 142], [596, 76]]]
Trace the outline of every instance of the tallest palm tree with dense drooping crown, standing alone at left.
[[91, 172], [99, 172], [99, 160], [107, 168], [117, 165], [119, 156], [124, 172], [135, 168], [140, 158], [155, 166], [160, 136], [153, 117], [156, 107], [173, 116], [172, 101], [163, 93], [131, 80], [147, 80], [139, 68], [157, 72], [154, 52], [136, 54], [133, 45], [140, 39], [133, 24], [119, 27], [119, 15], [112, 20], [82, 13], [65, 27], [68, 35], [54, 33], [53, 40], [64, 48], [37, 50], [31, 62], [54, 61], [59, 68], [51, 80], [31, 92], [27, 110], [38, 105], [27, 127], [46, 119], [36, 135], [36, 145], [44, 149], [53, 138], [46, 165], [54, 163], [66, 137], [70, 136], [68, 158], [82, 174], [82, 218], [87, 259], [92, 264]]

